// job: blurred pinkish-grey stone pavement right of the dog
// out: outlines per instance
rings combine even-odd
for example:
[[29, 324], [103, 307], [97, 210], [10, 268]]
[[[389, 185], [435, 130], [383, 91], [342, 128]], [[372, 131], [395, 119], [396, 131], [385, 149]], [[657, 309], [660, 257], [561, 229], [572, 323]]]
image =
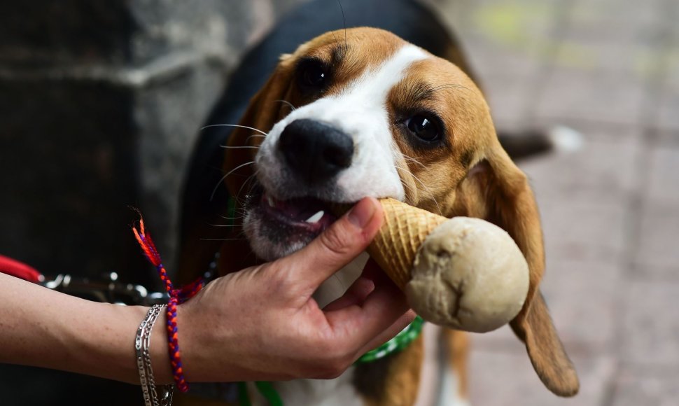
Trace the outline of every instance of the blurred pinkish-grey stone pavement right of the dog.
[[547, 304], [580, 374], [542, 387], [509, 328], [472, 337], [472, 404], [679, 405], [679, 1], [432, 0], [501, 128], [567, 125], [521, 162], [542, 211]]

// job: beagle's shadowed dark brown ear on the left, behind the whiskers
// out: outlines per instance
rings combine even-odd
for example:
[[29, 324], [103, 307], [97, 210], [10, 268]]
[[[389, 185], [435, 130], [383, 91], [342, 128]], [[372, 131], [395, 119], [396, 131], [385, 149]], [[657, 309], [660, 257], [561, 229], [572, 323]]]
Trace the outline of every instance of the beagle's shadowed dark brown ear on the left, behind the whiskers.
[[[282, 55], [276, 70], [267, 83], [250, 100], [250, 104], [231, 133], [227, 145], [230, 147], [257, 147], [262, 143], [265, 134], [277, 121], [290, 112], [291, 107], [283, 100], [288, 99], [292, 66], [290, 55]], [[245, 128], [249, 127], [249, 128]], [[262, 134], [263, 133], [263, 134]], [[244, 183], [254, 174], [253, 162], [255, 148], [227, 148], [224, 160], [226, 186], [232, 196], [238, 198]]]

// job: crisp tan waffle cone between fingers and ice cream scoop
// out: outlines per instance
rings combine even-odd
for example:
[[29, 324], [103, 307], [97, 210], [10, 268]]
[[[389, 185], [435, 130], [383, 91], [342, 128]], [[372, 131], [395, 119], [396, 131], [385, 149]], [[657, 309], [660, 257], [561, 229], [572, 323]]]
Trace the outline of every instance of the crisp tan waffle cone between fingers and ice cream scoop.
[[394, 199], [379, 202], [384, 208], [384, 224], [367, 252], [399, 288], [405, 289], [418, 248], [448, 219]]

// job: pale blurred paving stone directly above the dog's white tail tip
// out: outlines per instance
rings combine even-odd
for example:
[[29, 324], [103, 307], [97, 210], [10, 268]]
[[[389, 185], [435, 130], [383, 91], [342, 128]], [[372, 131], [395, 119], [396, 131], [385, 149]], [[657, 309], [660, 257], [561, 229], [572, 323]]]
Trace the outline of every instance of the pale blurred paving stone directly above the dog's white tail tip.
[[[577, 9], [571, 18], [577, 20]], [[577, 22], [569, 29], [577, 33]], [[659, 63], [659, 53], [605, 37], [582, 41], [572, 31], [561, 38], [554, 70], [542, 89], [535, 115], [640, 123], [647, 77]]]

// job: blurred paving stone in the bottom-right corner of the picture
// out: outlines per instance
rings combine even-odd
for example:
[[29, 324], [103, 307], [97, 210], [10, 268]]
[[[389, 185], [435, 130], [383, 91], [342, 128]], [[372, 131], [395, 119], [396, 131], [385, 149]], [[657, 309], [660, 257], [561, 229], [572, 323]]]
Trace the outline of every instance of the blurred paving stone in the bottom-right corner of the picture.
[[615, 382], [612, 406], [679, 405], [679, 369], [642, 372], [623, 367]]

